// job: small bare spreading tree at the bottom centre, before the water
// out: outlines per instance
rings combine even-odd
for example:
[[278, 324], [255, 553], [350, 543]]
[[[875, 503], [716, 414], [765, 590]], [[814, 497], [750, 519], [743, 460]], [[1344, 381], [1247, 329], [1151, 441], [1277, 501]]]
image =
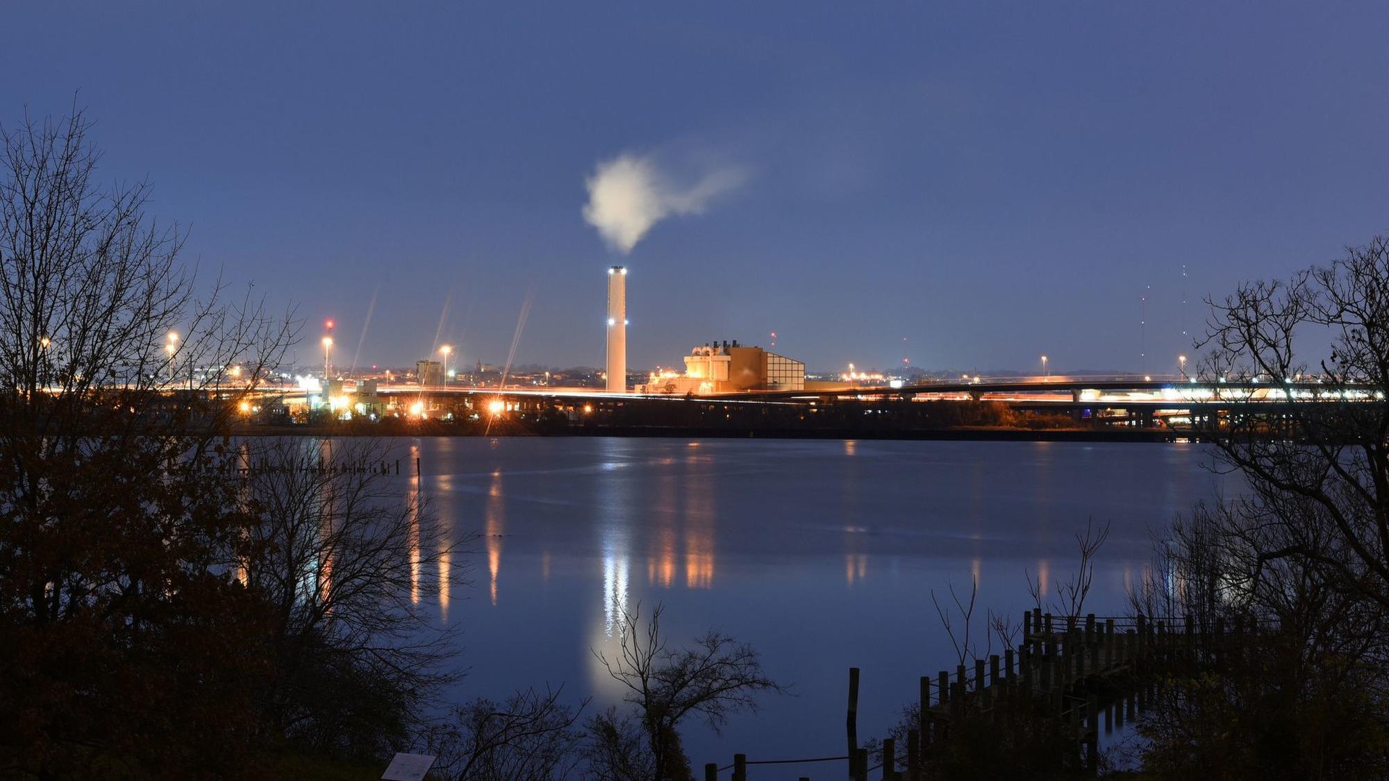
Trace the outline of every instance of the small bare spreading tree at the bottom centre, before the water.
[[[626, 687], [625, 700], [638, 710], [646, 738], [649, 764], [639, 771], [651, 781], [681, 780], [690, 775], [689, 760], [681, 749], [679, 724], [696, 714], [718, 732], [733, 713], [757, 710], [756, 695], [786, 693], [786, 687], [763, 671], [761, 656], [747, 643], [710, 630], [685, 649], [672, 649], [661, 635], [663, 606], [651, 610], [644, 630], [640, 606], [624, 609], [618, 655], [608, 659], [593, 652], [608, 674]], [[615, 713], [592, 724], [600, 750], [590, 759], [601, 762], [618, 752], [614, 743], [629, 743], [631, 724]], [[596, 773], [610, 773], [611, 767]], [[626, 775], [615, 775], [626, 778]]]

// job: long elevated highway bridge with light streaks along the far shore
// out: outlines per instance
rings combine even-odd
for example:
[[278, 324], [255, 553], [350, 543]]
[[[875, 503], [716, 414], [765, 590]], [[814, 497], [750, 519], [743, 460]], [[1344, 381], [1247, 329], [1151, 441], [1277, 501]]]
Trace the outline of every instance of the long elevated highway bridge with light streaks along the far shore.
[[[1190, 428], [1222, 420], [1235, 409], [1254, 406], [1270, 420], [1308, 402], [1381, 402], [1383, 395], [1368, 385], [1343, 386], [1317, 379], [1268, 382], [1267, 379], [1203, 381], [1179, 377], [1022, 377], [926, 381], [913, 385], [820, 386], [807, 390], [751, 390], [710, 396], [610, 393], [597, 388], [549, 386], [421, 386], [378, 385], [375, 396], [356, 393], [344, 384], [342, 395], [324, 399], [314, 389], [265, 388], [257, 392], [263, 406], [304, 410], [311, 402], [328, 402], [349, 416], [378, 414], [406, 418], [521, 420], [567, 418], [571, 427], [601, 425], [746, 425], [749, 429], [851, 427], [903, 431], [971, 424], [981, 416], [950, 420], [926, 402], [990, 402], [1018, 413], [1042, 414], [1060, 425], [1070, 418], [1081, 427]], [[318, 396], [318, 399], [314, 399]], [[365, 410], [367, 402], [371, 410]], [[257, 409], [258, 411], [258, 409]], [[356, 411], [356, 413], [354, 413]], [[868, 416], [868, 418], [864, 418]], [[954, 416], [961, 417], [961, 416]], [[983, 416], [981, 420], [986, 418]], [[636, 422], [633, 422], [636, 421]], [[831, 422], [832, 421], [832, 422]], [[999, 424], [1003, 425], [1003, 424]], [[1014, 424], [1017, 425], [1017, 424]]]

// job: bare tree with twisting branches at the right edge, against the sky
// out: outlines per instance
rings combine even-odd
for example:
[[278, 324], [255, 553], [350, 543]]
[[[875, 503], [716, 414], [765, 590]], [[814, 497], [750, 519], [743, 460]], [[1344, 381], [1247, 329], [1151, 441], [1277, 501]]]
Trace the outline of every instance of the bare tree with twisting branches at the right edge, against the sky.
[[[1211, 307], [1203, 375], [1224, 381], [1232, 410], [1208, 434], [1260, 498], [1251, 509], [1281, 527], [1264, 561], [1303, 559], [1389, 610], [1389, 243]], [[1331, 349], [1308, 359], [1313, 339]], [[1293, 517], [1279, 517], [1289, 503]]]

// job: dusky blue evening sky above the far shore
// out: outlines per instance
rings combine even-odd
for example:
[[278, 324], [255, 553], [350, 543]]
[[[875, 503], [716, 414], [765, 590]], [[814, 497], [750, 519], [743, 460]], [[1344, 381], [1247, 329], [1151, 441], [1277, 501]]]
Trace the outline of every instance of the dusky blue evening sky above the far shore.
[[[1389, 18], [1364, 3], [15, 3], [0, 120], [78, 103], [186, 257], [338, 320], [346, 364], [1171, 371], [1200, 297], [1389, 222]], [[740, 186], [629, 256], [622, 153]], [[1147, 304], [1140, 361], [1139, 297]], [[443, 307], [444, 329], [436, 339]], [[906, 338], [906, 340], [904, 340]]]

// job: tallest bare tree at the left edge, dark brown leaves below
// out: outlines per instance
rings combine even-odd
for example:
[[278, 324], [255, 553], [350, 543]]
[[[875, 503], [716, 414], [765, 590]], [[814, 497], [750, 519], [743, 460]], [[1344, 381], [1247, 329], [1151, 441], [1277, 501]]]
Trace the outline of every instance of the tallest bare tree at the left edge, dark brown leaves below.
[[[263, 616], [219, 567], [238, 488], [201, 464], [296, 327], [199, 285], [149, 185], [99, 181], [89, 129], [81, 110], [0, 126], [0, 762], [235, 763], [258, 645], [208, 638]], [[229, 365], [251, 382], [221, 390]]]

